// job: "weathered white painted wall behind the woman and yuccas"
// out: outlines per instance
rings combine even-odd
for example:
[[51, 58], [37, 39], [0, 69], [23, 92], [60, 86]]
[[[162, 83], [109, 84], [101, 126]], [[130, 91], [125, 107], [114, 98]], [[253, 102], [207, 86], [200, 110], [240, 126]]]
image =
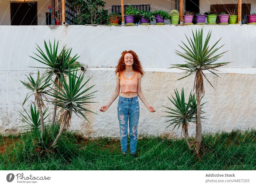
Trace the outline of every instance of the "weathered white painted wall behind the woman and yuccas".
[[[84, 82], [91, 76], [88, 87], [99, 90], [98, 102], [89, 105], [89, 110], [98, 113], [87, 114], [91, 123], [76, 115], [72, 118], [71, 130], [77, 130], [86, 136], [118, 136], [117, 99], [107, 112], [100, 112], [100, 106], [108, 103], [115, 89], [115, 66], [123, 50], [134, 50], [142, 63], [145, 75], [142, 78], [142, 91], [147, 102], [154, 105], [156, 112], [148, 112], [140, 101], [139, 134], [170, 133], [165, 129], [166, 109], [172, 107], [168, 97], [174, 89], [184, 87], [186, 96], [193, 89], [194, 79], [188, 77], [176, 81], [184, 74], [178, 69], [167, 69], [170, 64], [181, 63], [182, 58], [174, 54], [180, 50], [178, 44], [184, 41], [184, 35], [191, 36], [191, 29], [204, 28], [204, 37], [212, 30], [210, 45], [222, 37], [220, 51], [229, 50], [219, 62], [232, 61], [229, 66], [219, 70], [220, 78], [207, 73], [214, 90], [205, 80], [204, 106], [206, 118], [203, 131], [231, 131], [233, 128], [256, 128], [256, 53], [255, 25], [150, 25], [150, 26], [0, 26], [0, 132], [18, 132], [16, 126], [23, 125], [19, 111], [28, 90], [19, 80], [24, 81], [26, 74], [36, 76], [36, 69], [28, 66], [43, 66], [28, 55], [35, 56], [36, 43], [43, 47], [43, 41], [54, 37], [60, 45], [72, 47], [72, 56], [80, 55], [78, 61], [89, 66]], [[43, 72], [43, 71], [42, 71]], [[31, 101], [33, 98], [31, 97]], [[25, 108], [29, 108], [28, 101]], [[23, 111], [22, 111], [23, 112]], [[171, 136], [180, 136], [180, 130], [174, 130]], [[195, 135], [195, 125], [191, 124], [189, 134]]]

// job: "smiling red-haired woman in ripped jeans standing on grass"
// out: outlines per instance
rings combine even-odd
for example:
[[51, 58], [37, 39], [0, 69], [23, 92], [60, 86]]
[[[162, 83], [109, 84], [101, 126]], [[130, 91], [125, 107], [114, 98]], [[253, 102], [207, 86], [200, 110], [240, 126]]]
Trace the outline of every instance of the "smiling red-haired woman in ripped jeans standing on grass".
[[121, 93], [118, 99], [117, 114], [120, 128], [120, 142], [122, 154], [125, 156], [127, 151], [127, 136], [128, 136], [128, 119], [130, 130], [130, 152], [133, 157], [135, 155], [136, 145], [138, 140], [138, 122], [140, 116], [140, 105], [138, 96], [149, 112], [156, 112], [153, 106], [149, 106], [142, 91], [141, 77], [143, 69], [137, 54], [132, 51], [124, 50], [122, 56], [116, 66], [116, 89], [113, 96], [107, 105], [100, 108], [101, 112], [105, 112], [108, 107], [116, 100], [116, 97]]

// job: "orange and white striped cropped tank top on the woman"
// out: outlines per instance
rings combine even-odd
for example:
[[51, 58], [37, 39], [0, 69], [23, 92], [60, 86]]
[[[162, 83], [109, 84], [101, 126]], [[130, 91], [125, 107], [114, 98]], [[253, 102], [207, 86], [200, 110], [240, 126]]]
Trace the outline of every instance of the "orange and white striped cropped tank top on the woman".
[[121, 72], [119, 80], [121, 93], [137, 92], [138, 79], [138, 72], [135, 72], [132, 78], [124, 77], [123, 72]]

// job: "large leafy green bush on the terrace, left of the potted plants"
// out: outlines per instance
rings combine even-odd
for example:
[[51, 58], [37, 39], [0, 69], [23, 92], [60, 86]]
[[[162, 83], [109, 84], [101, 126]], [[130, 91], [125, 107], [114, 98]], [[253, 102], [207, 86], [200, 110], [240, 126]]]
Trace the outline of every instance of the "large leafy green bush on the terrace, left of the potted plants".
[[75, 25], [106, 25], [108, 10], [104, 9], [103, 0], [69, 0], [71, 8], [77, 13], [73, 18]]

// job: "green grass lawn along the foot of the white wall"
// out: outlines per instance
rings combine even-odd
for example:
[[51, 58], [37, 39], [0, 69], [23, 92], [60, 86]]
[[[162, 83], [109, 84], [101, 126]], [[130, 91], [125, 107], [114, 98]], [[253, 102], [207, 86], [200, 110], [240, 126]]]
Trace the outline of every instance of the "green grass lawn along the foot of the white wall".
[[200, 159], [184, 139], [161, 136], [142, 136], [138, 158], [123, 157], [118, 138], [90, 140], [66, 132], [47, 152], [33, 148], [28, 134], [0, 136], [0, 170], [255, 170], [255, 136], [256, 130], [204, 134]]

